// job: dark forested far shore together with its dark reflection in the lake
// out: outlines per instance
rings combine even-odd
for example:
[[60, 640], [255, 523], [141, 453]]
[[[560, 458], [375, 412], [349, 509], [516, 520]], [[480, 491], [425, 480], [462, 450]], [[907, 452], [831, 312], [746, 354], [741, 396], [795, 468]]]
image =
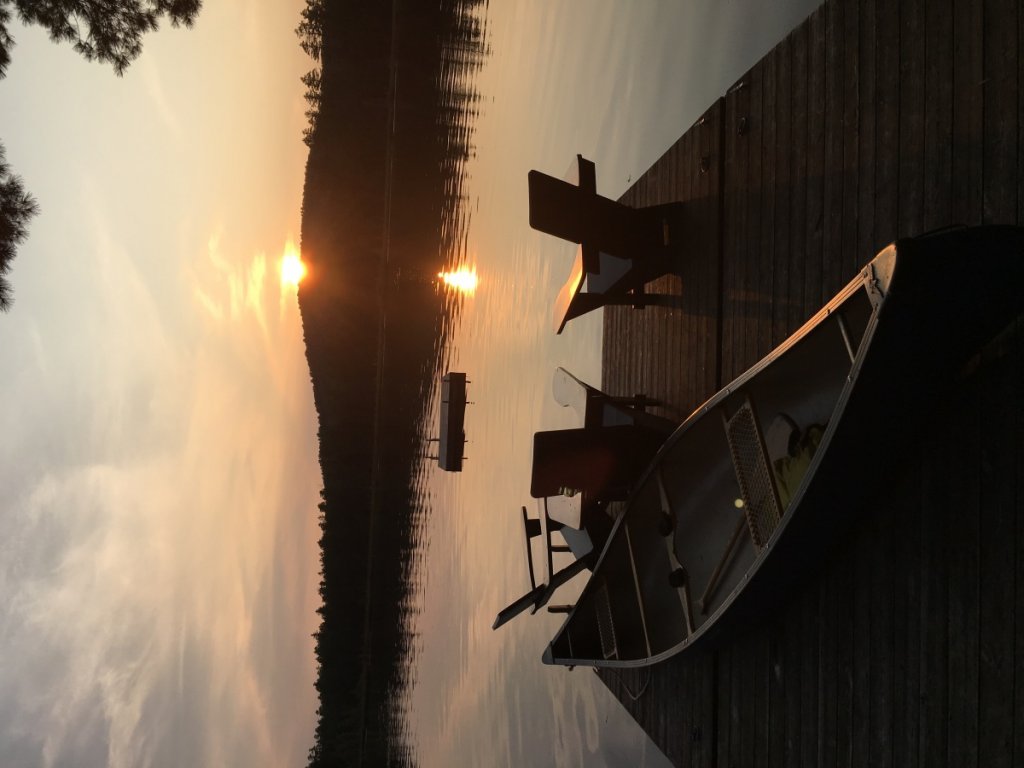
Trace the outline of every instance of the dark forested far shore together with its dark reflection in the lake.
[[482, 0], [308, 0], [299, 292], [319, 418], [323, 605], [309, 765], [412, 765], [402, 733], [423, 453], [447, 324], [433, 278], [465, 244]]

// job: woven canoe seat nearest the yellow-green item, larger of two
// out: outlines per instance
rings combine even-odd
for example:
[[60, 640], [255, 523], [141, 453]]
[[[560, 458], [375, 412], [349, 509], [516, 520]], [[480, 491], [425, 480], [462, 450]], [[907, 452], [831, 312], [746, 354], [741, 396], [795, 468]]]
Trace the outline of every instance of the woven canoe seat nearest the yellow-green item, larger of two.
[[767, 544], [781, 519], [781, 504], [775, 477], [768, 464], [764, 435], [750, 395], [732, 416], [722, 412], [725, 434], [729, 441], [732, 466], [739, 482], [743, 515], [751, 539], [758, 551]]

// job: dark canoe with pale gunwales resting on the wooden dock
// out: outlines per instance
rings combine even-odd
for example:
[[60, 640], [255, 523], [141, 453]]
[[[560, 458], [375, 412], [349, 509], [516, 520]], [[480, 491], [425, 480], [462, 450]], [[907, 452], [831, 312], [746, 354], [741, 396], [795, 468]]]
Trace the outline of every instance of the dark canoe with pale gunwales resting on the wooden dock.
[[544, 662], [642, 667], [783, 606], [898, 471], [943, 386], [1022, 312], [1022, 228], [883, 250], [666, 441]]

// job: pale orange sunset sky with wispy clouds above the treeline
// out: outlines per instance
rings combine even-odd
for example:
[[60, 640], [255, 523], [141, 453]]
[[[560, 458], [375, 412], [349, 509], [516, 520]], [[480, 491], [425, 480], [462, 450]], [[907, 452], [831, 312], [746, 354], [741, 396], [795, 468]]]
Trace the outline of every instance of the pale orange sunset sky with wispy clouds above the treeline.
[[210, 0], [124, 77], [12, 29], [39, 203], [0, 314], [5, 765], [295, 765], [322, 486], [301, 318], [299, 0]]

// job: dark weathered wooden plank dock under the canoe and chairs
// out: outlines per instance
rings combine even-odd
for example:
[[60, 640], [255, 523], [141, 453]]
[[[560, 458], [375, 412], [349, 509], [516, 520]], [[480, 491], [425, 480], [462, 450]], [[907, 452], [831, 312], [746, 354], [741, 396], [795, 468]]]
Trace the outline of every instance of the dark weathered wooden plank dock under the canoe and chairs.
[[[603, 389], [684, 416], [895, 239], [1024, 223], [1022, 48], [1014, 0], [821, 6], [623, 198], [689, 203], [693, 238], [654, 287], [683, 308], [605, 310]], [[601, 673], [676, 765], [1024, 766], [1022, 337], [922, 434], [881, 425], [905, 461], [864, 457], [887, 492], [771, 622]]]

